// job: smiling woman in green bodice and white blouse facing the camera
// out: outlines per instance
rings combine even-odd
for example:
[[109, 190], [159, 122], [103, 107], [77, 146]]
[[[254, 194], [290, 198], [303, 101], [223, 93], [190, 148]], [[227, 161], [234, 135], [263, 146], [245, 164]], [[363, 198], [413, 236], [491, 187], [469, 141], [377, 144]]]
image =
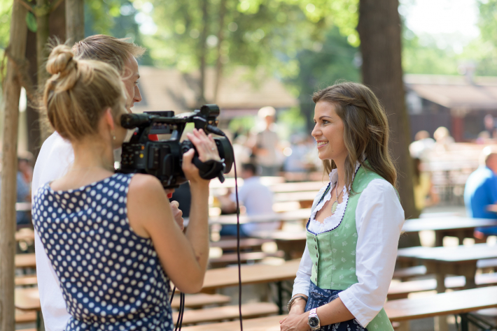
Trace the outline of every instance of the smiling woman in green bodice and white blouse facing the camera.
[[330, 182], [314, 199], [281, 330], [391, 331], [383, 304], [404, 211], [384, 109], [352, 82], [317, 91], [313, 100], [312, 136]]

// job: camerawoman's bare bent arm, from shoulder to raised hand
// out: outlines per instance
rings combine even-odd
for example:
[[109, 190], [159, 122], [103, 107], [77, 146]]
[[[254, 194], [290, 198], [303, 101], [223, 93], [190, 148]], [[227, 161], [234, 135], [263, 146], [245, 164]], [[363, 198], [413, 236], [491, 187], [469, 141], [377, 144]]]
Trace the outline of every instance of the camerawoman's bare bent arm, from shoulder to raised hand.
[[[197, 147], [201, 161], [219, 159], [211, 137], [194, 131], [188, 138]], [[185, 235], [174, 221], [166, 193], [155, 177], [135, 175], [127, 203], [130, 225], [138, 235], [152, 239], [165, 272], [185, 293], [195, 293], [202, 288], [209, 258], [209, 180], [200, 178], [192, 159], [193, 149], [183, 154], [183, 172], [190, 179], [192, 205], [195, 206]]]

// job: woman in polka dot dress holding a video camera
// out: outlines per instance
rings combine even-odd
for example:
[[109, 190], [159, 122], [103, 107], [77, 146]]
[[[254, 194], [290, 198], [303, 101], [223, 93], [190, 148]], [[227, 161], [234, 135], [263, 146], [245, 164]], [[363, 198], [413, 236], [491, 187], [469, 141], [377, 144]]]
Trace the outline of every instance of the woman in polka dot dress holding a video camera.
[[[46, 68], [43, 106], [74, 162], [38, 190], [33, 221], [71, 314], [65, 330], [172, 330], [169, 279], [183, 293], [199, 291], [209, 256], [209, 181], [192, 163], [195, 151], [183, 154], [195, 205], [183, 234], [158, 179], [113, 172], [127, 112], [116, 69], [75, 59], [66, 45]], [[201, 161], [219, 160], [210, 135], [188, 138]]]

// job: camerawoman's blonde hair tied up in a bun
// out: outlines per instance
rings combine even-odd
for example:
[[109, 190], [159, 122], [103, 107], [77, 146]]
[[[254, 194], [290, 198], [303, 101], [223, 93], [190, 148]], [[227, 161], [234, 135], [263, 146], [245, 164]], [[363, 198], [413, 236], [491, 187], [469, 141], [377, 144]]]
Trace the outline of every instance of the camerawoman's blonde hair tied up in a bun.
[[[125, 112], [126, 94], [115, 68], [101, 61], [78, 60], [66, 45], [50, 52], [43, 108], [53, 128], [69, 141], [97, 133], [107, 108], [114, 120]], [[117, 122], [117, 121], [116, 121]]]

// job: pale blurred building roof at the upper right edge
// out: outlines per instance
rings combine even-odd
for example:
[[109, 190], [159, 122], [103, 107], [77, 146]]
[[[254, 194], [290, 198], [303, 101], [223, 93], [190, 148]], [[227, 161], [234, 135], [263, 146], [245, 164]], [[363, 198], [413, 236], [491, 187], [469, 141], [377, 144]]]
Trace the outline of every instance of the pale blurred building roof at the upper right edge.
[[497, 109], [497, 77], [404, 75], [408, 89], [447, 108]]

